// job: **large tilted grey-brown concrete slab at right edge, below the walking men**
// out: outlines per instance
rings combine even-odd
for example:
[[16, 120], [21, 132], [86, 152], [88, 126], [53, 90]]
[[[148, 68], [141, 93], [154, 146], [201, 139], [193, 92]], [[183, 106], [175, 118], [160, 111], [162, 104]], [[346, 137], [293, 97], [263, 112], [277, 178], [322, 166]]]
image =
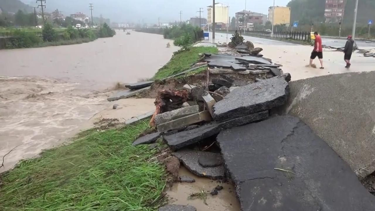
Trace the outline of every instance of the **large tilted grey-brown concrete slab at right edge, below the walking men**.
[[375, 171], [374, 81], [375, 72], [291, 81], [285, 106], [286, 113], [306, 122], [360, 178]]

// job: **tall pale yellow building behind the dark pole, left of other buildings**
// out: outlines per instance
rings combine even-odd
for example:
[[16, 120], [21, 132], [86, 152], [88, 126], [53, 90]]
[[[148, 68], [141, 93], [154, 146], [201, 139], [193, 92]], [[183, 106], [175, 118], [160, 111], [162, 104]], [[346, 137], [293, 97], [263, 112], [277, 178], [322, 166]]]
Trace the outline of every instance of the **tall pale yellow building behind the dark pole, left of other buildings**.
[[[212, 25], [212, 14], [212, 6], [207, 6], [207, 22], [210, 25]], [[228, 6], [222, 3], [215, 4], [215, 23], [218, 29], [223, 29], [227, 23], [229, 24]]]

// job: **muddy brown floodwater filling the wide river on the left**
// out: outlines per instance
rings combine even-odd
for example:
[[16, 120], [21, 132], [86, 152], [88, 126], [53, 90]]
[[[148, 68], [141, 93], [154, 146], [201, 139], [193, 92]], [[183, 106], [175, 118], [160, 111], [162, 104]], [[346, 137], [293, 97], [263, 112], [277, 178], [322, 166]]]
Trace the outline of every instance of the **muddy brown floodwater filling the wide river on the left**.
[[[107, 97], [116, 84], [152, 77], [178, 50], [166, 48], [168, 42], [117, 31], [79, 45], [0, 50], [0, 156], [17, 147], [0, 172], [90, 128], [93, 116], [112, 117]], [[150, 111], [153, 101], [121, 100], [113, 112], [127, 119]]]

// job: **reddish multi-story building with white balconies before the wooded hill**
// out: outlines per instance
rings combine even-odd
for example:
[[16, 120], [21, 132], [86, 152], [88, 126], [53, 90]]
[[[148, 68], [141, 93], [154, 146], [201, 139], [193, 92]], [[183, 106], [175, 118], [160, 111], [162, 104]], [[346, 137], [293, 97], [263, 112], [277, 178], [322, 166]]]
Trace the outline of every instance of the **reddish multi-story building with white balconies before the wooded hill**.
[[344, 17], [345, 0], [326, 0], [326, 9], [324, 10], [324, 17], [326, 23], [341, 22]]

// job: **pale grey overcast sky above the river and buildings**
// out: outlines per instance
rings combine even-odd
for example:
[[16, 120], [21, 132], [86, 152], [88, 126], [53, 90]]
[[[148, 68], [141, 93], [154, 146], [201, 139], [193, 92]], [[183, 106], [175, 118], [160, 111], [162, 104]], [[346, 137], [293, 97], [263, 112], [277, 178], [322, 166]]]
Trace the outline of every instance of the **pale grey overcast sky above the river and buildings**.
[[[34, 5], [34, 0], [22, 0]], [[229, 4], [229, 16], [233, 17], [238, 11], [245, 9], [245, 0], [223, 0], [223, 4]], [[275, 5], [286, 6], [290, 0], [275, 0]], [[180, 20], [179, 12], [182, 11], [182, 19], [199, 17], [199, 8], [203, 9], [202, 17], [207, 18], [207, 6], [212, 5], [212, 0], [47, 0], [47, 11], [59, 9], [64, 15], [75, 12], [90, 14], [89, 3], [93, 3], [94, 16], [100, 14], [115, 22], [138, 22], [144, 19], [145, 23], [169, 22]], [[268, 8], [273, 5], [273, 0], [247, 0], [246, 9], [268, 15]]]

